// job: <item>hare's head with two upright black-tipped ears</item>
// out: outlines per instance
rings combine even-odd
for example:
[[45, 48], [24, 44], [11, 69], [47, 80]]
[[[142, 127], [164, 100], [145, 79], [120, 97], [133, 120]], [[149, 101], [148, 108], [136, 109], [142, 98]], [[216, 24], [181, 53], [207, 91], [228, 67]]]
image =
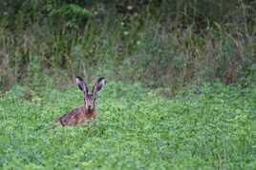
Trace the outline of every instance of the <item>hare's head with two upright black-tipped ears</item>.
[[89, 88], [86, 83], [80, 77], [76, 77], [76, 85], [84, 93], [84, 106], [85, 109], [93, 111], [96, 108], [96, 94], [100, 91], [103, 85], [106, 85], [106, 80], [101, 77], [97, 79], [96, 84], [93, 87], [92, 92], [89, 92]]

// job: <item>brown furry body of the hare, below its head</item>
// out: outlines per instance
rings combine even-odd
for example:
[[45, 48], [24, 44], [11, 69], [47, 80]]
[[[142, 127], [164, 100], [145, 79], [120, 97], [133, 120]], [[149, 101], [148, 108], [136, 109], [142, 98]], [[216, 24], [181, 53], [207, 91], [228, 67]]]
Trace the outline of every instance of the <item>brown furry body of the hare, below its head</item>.
[[75, 126], [80, 123], [86, 123], [96, 119], [96, 110], [88, 110], [85, 106], [76, 107], [70, 113], [67, 113], [57, 119], [56, 122], [60, 123], [62, 126], [72, 125]]

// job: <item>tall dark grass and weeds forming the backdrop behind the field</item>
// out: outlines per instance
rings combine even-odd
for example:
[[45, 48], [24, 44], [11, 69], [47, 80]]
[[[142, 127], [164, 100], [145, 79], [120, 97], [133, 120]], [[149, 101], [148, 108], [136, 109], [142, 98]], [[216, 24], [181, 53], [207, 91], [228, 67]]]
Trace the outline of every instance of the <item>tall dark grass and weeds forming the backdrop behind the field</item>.
[[255, 0], [0, 2], [0, 88], [105, 76], [175, 94], [255, 81]]

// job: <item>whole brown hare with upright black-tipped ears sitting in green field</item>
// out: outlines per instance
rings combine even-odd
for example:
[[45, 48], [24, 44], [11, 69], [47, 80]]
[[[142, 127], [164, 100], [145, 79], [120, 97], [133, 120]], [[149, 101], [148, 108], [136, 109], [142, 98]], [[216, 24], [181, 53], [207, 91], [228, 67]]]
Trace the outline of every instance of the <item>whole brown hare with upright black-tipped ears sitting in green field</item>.
[[89, 93], [88, 86], [80, 77], [76, 77], [76, 85], [84, 93], [84, 105], [76, 107], [70, 113], [63, 115], [56, 120], [62, 126], [86, 123], [96, 119], [96, 93], [106, 85], [106, 80], [101, 77], [96, 81], [92, 93]]

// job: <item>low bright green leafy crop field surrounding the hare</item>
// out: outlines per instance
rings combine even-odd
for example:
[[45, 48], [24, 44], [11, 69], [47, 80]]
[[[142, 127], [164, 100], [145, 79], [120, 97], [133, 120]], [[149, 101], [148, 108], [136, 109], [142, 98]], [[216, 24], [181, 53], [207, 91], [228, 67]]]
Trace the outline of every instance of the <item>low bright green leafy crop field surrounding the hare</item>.
[[172, 99], [120, 83], [99, 93], [96, 121], [65, 128], [50, 127], [82, 104], [75, 86], [29, 100], [22, 86], [3, 93], [0, 169], [256, 168], [255, 85], [202, 85]]

